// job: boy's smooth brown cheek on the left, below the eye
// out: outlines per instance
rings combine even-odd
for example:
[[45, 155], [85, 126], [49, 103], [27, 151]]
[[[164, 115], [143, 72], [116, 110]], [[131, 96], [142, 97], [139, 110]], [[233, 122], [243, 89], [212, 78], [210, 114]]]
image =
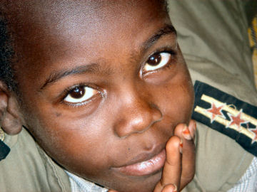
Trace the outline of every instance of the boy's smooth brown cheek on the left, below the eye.
[[81, 175], [83, 170], [83, 175], [87, 176], [97, 175], [108, 168], [109, 154], [106, 151], [111, 148], [112, 137], [99, 124], [64, 114], [56, 117], [53, 109], [41, 110], [31, 119], [28, 129], [36, 142], [61, 166]]

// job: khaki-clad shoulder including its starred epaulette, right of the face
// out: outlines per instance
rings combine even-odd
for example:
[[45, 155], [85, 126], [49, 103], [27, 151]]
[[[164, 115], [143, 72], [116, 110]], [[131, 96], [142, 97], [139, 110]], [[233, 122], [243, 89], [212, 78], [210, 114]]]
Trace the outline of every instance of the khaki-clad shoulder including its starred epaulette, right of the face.
[[168, 0], [168, 4], [196, 90], [196, 177], [186, 190], [228, 191], [257, 151], [257, 92], [243, 4], [238, 0]]

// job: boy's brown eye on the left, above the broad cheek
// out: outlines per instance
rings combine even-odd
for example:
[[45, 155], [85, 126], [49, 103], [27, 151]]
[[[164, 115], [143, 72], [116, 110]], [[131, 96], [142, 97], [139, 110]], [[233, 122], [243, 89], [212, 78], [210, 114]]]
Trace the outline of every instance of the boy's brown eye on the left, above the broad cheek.
[[65, 102], [69, 103], [82, 103], [89, 100], [91, 97], [98, 93], [97, 90], [87, 86], [77, 86], [69, 91], [69, 94], [64, 98]]

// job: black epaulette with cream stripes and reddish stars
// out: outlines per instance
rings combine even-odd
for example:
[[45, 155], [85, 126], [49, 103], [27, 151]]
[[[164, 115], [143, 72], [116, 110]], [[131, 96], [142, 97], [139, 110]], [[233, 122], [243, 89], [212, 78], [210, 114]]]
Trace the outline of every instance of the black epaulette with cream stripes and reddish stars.
[[257, 156], [257, 107], [196, 81], [193, 119], [235, 139]]

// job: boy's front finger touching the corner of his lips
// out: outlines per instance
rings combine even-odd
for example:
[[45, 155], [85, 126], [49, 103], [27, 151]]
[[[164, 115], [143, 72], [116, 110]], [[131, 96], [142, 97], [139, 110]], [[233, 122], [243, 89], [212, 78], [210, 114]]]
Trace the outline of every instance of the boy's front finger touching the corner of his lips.
[[173, 136], [166, 144], [166, 161], [163, 167], [161, 180], [157, 183], [154, 192], [161, 192], [168, 184], [180, 185], [181, 179], [181, 139]]

